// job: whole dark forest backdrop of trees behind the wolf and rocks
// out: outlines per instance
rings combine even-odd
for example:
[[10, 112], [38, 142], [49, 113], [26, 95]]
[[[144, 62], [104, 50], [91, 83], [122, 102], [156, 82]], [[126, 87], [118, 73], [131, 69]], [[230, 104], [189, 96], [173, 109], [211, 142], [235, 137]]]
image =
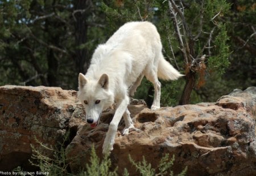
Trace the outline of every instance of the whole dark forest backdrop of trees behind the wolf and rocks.
[[[156, 25], [164, 55], [184, 78], [162, 82], [162, 105], [216, 101], [256, 86], [253, 0], [1, 0], [0, 85], [77, 89], [96, 46], [123, 23]], [[148, 104], [148, 81], [137, 98]]]

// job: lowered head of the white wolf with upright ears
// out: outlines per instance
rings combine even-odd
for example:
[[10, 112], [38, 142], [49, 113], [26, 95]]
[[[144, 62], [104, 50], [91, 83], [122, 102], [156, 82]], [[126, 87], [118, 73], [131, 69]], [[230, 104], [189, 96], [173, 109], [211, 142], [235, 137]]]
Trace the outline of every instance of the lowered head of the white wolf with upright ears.
[[114, 102], [114, 96], [109, 91], [109, 76], [103, 74], [98, 80], [90, 80], [80, 73], [78, 97], [85, 108], [86, 121], [91, 127], [96, 127], [101, 112]]

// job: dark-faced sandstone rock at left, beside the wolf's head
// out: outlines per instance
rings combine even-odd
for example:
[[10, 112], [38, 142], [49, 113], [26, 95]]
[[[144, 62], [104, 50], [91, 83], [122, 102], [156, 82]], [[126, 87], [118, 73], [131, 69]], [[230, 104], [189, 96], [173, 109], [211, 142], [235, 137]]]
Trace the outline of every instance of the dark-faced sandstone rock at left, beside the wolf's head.
[[[0, 87], [0, 171], [17, 166], [29, 170], [31, 144], [41, 141], [53, 148], [68, 129], [76, 132], [84, 111], [77, 104], [76, 91], [56, 87]], [[51, 156], [51, 151], [41, 151]]]

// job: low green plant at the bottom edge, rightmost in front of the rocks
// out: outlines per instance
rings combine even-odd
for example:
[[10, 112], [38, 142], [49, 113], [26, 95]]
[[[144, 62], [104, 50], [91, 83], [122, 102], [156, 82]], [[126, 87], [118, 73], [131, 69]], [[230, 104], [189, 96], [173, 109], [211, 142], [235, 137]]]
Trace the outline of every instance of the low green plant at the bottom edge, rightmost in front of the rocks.
[[[133, 158], [131, 158], [129, 154], [129, 160], [131, 164], [135, 166], [136, 170], [139, 171], [139, 173], [141, 173], [142, 176], [174, 175], [173, 171], [171, 170], [172, 165], [174, 165], [174, 155], [170, 160], [169, 154], [166, 153], [165, 156], [162, 157], [162, 159], [160, 160], [159, 165], [156, 169], [152, 168], [151, 164], [145, 160], [144, 156], [142, 157], [142, 161], [139, 161], [137, 163], [133, 160]], [[178, 176], [183, 176], [186, 174], [186, 172], [187, 167], [185, 167], [185, 169], [181, 171], [181, 173], [178, 174]]]

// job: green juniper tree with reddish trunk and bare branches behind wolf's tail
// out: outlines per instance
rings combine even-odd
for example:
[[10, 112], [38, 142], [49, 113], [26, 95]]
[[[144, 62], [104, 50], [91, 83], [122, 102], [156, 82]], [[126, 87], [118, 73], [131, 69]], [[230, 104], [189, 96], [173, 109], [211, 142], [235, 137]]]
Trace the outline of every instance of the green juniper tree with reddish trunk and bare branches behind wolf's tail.
[[[222, 16], [229, 8], [229, 3], [224, 0], [112, 1], [108, 5], [102, 2], [110, 24], [149, 20], [157, 25], [164, 54], [185, 74], [179, 104], [189, 103], [192, 90], [205, 83], [205, 74], [217, 72], [221, 75], [229, 66], [229, 37], [222, 22]], [[181, 83], [174, 85], [177, 87]], [[163, 89], [165, 92], [170, 95]], [[174, 102], [162, 97], [164, 103]]]

